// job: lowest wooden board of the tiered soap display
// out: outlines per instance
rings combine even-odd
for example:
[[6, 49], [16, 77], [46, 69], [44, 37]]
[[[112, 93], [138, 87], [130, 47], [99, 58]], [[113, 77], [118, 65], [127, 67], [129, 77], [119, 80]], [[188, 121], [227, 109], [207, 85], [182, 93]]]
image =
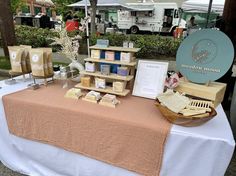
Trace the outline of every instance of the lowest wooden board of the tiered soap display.
[[125, 89], [123, 92], [115, 92], [112, 90], [112, 87], [108, 87], [108, 86], [106, 87], [106, 89], [98, 89], [94, 85], [91, 85], [90, 87], [85, 87], [85, 86], [82, 86], [81, 83], [75, 85], [75, 87], [80, 88], [80, 89], [94, 90], [97, 92], [109, 93], [109, 94], [120, 95], [120, 96], [126, 96], [130, 92], [130, 90], [128, 89]]

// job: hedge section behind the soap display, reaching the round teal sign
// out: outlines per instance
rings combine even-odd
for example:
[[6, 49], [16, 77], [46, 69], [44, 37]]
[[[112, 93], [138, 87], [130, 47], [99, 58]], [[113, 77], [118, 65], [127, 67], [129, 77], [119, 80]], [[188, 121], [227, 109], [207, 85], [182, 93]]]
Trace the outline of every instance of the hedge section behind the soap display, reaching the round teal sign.
[[[134, 42], [134, 47], [141, 48], [137, 53], [138, 58], [156, 59], [162, 57], [175, 57], [181, 39], [164, 37], [160, 35], [118, 35], [109, 34], [104, 36], [93, 35], [90, 44], [95, 45], [97, 39], [108, 39], [111, 46], [122, 46], [123, 41]], [[85, 41], [85, 40], [84, 40]]]

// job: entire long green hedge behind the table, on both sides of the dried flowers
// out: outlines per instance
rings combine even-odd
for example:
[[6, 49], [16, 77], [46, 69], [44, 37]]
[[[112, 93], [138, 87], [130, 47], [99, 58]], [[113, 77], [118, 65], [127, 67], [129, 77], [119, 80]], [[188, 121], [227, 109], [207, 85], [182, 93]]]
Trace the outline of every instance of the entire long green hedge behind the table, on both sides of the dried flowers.
[[[86, 54], [86, 34], [74, 31], [69, 32], [70, 37], [80, 34], [83, 40], [80, 41], [80, 53]], [[51, 47], [53, 42], [51, 38], [57, 36], [58, 33], [42, 28], [34, 28], [29, 26], [16, 26], [17, 44], [31, 45], [32, 47]], [[173, 39], [172, 37], [160, 35], [124, 35], [124, 34], [107, 34], [102, 36], [90, 36], [90, 45], [95, 45], [97, 39], [108, 39], [111, 46], [122, 46], [123, 41], [134, 42], [134, 47], [141, 48], [136, 54], [137, 58], [156, 59], [158, 57], [175, 57], [181, 39]], [[58, 51], [59, 46], [53, 46], [53, 51]]]

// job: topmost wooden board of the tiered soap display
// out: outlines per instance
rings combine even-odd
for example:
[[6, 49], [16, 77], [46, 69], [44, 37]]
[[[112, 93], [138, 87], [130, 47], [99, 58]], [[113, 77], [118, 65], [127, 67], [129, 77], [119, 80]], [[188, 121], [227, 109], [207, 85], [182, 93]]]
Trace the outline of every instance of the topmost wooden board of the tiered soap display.
[[90, 49], [95, 50], [106, 50], [106, 51], [119, 51], [119, 52], [130, 52], [130, 53], [136, 53], [140, 51], [140, 48], [124, 48], [124, 47], [117, 47], [117, 46], [109, 46], [109, 47], [99, 47], [99, 46], [90, 46]]

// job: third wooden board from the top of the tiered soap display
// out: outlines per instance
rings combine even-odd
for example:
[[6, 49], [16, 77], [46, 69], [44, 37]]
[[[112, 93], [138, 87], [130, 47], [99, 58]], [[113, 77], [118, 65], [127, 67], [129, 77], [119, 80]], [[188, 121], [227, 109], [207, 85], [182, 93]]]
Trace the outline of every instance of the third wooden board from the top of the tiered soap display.
[[131, 81], [134, 79], [134, 76], [128, 75], [128, 76], [120, 76], [114, 73], [111, 73], [110, 75], [104, 75], [101, 74], [101, 72], [86, 72], [86, 71], [81, 71], [80, 74], [82, 75], [89, 75], [89, 76], [95, 76], [95, 77], [100, 77], [100, 78], [110, 78], [110, 79], [115, 79], [115, 80], [121, 80], [121, 81]]

